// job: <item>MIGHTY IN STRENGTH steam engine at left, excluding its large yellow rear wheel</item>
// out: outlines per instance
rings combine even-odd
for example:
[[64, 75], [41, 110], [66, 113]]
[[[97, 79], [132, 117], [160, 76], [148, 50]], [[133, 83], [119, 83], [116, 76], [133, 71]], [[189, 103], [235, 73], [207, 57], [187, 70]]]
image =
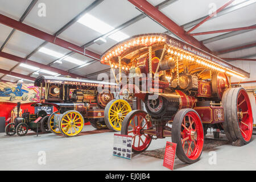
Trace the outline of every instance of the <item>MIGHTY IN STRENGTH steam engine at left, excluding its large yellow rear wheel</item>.
[[[85, 122], [96, 129], [106, 128], [104, 108], [114, 99], [114, 94], [106, 92], [117, 84], [69, 77], [39, 76], [35, 80], [39, 86], [40, 102], [51, 104], [58, 111], [48, 118], [48, 128], [52, 133], [62, 133], [65, 137], [81, 133]], [[102, 89], [98, 92], [98, 89]]]

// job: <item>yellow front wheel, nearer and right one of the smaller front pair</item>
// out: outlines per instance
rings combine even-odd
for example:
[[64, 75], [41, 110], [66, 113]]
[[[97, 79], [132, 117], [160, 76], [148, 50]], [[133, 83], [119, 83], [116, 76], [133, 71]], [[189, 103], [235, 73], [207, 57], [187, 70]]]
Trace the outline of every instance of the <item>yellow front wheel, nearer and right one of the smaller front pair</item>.
[[80, 134], [82, 127], [84, 127], [84, 117], [78, 111], [69, 110], [62, 114], [59, 129], [65, 137], [74, 137]]

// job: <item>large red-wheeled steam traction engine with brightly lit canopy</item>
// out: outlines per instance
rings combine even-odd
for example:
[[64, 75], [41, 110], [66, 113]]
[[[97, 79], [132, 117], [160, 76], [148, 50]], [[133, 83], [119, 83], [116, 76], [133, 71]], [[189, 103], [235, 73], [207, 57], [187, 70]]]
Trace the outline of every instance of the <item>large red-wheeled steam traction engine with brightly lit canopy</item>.
[[[177, 157], [195, 163], [208, 127], [224, 130], [230, 142], [250, 142], [249, 97], [239, 85], [230, 85], [230, 76], [250, 76], [242, 69], [166, 34], [118, 43], [102, 55], [101, 63], [110, 65], [113, 73], [116, 68], [119, 75], [129, 75], [126, 81], [116, 76], [123, 98], [137, 97], [146, 107], [147, 112], [133, 110], [122, 122], [121, 134], [133, 136], [133, 152], [146, 150], [152, 139], [172, 137]], [[139, 84], [130, 84], [135, 78]]]

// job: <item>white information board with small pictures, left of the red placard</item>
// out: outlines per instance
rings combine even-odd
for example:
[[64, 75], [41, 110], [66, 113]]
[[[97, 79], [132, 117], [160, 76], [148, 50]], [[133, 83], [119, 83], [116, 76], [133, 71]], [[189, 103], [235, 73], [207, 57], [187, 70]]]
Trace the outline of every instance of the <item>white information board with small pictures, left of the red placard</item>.
[[129, 135], [114, 134], [113, 155], [131, 159], [131, 142]]

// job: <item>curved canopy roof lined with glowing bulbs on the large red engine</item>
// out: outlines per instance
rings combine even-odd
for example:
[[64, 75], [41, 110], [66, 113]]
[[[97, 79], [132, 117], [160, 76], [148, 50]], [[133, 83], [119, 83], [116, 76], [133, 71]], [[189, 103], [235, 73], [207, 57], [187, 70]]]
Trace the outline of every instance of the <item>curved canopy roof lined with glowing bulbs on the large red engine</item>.
[[164, 59], [177, 60], [179, 72], [183, 71], [185, 60], [189, 72], [200, 73], [202, 79], [210, 78], [209, 73], [212, 71], [225, 72], [229, 76], [241, 79], [250, 77], [250, 73], [167, 34], [142, 34], [126, 39], [108, 49], [102, 55], [101, 63], [129, 71], [134, 67], [134, 60], [148, 55], [149, 47], [152, 52], [164, 50]]

